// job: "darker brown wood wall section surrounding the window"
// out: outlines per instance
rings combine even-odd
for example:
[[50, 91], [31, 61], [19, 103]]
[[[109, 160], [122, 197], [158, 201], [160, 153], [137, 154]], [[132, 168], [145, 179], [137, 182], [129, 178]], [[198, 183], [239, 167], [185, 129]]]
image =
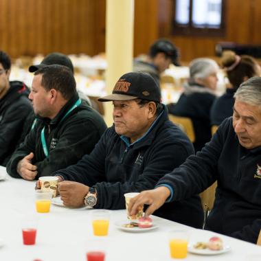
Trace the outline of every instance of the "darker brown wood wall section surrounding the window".
[[181, 51], [181, 60], [214, 56], [215, 45], [220, 41], [261, 45], [261, 0], [225, 0], [226, 26], [224, 37], [176, 36], [171, 32], [172, 0], [159, 0], [159, 30], [161, 37], [170, 38]]

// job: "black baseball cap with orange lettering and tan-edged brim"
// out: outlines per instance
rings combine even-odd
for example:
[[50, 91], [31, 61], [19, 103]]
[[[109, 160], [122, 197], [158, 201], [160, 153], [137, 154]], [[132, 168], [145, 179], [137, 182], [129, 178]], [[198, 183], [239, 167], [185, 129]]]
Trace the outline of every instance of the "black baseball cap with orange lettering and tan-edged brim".
[[113, 94], [98, 98], [98, 101], [109, 102], [135, 99], [161, 102], [159, 85], [148, 73], [138, 71], [124, 74], [116, 82]]

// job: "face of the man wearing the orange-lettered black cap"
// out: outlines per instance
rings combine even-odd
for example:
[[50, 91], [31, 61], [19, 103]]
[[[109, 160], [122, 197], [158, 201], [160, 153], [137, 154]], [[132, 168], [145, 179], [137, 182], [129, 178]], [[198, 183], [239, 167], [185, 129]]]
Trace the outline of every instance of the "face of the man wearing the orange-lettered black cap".
[[131, 143], [146, 133], [152, 122], [149, 104], [140, 106], [135, 100], [113, 101], [115, 131], [131, 139]]

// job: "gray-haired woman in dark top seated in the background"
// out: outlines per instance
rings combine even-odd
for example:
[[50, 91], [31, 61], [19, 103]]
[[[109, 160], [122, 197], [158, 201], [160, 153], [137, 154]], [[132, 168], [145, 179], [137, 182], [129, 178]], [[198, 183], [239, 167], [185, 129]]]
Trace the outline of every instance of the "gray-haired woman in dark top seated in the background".
[[190, 63], [190, 79], [177, 104], [168, 106], [173, 115], [190, 117], [194, 126], [196, 151], [201, 150], [212, 137], [210, 109], [216, 98], [218, 65], [209, 58], [197, 58]]

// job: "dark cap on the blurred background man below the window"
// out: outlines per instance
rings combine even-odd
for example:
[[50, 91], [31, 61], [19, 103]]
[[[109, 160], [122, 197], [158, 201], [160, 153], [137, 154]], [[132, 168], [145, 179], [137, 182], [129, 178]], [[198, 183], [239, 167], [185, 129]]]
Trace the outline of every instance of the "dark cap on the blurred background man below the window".
[[179, 66], [179, 51], [168, 39], [161, 38], [150, 46], [151, 57], [156, 56], [160, 52], [163, 52], [166, 56], [170, 57], [174, 65]]

